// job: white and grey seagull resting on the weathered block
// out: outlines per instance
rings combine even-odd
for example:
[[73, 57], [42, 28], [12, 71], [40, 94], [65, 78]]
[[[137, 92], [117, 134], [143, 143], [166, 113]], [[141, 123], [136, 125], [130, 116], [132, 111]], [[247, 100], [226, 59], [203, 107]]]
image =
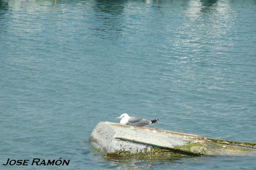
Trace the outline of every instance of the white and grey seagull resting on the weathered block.
[[120, 120], [121, 125], [131, 125], [131, 126], [139, 126], [139, 127], [150, 125], [159, 121], [159, 119], [154, 119], [154, 120], [141, 119], [139, 117], [129, 116], [127, 113], [123, 113], [120, 117], [117, 117], [117, 119], [121, 119]]

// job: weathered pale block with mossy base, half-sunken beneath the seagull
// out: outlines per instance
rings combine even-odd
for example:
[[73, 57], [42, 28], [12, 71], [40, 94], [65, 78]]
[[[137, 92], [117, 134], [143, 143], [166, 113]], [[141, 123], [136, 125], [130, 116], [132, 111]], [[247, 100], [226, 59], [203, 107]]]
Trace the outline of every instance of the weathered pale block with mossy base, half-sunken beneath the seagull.
[[113, 122], [99, 122], [92, 131], [89, 142], [105, 157], [256, 156], [255, 143], [212, 139]]

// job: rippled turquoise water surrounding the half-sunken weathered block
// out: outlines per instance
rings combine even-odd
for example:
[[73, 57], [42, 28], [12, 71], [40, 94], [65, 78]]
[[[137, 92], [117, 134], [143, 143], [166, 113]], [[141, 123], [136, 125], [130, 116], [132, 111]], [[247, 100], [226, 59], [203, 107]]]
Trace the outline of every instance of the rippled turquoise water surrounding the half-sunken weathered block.
[[[104, 159], [121, 113], [256, 142], [255, 0], [0, 0], [0, 169], [248, 169], [256, 157]], [[3, 166], [70, 159], [67, 167]]]

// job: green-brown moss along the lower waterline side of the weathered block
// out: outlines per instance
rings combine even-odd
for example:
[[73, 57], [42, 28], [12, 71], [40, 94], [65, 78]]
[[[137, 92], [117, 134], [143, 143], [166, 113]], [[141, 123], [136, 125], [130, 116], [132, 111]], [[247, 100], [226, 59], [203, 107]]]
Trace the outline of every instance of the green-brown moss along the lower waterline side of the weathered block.
[[[223, 147], [225, 146], [225, 147]], [[100, 152], [98, 148], [94, 150]], [[157, 148], [145, 147], [134, 153], [131, 150], [117, 150], [113, 153], [106, 153], [105, 158], [142, 158], [142, 159], [165, 159], [165, 158], [179, 158], [186, 156], [202, 156], [202, 155], [218, 155], [220, 153], [240, 153], [241, 151], [250, 151], [250, 148], [237, 147], [230, 144], [220, 144], [215, 142], [188, 142], [182, 146], [175, 146], [174, 148]]]

